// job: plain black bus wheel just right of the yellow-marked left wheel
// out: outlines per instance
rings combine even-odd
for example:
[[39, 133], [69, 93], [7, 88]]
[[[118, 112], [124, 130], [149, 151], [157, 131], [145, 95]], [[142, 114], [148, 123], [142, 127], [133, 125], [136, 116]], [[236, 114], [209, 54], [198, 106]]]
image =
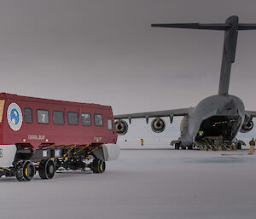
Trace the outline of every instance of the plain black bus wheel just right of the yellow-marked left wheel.
[[52, 179], [55, 176], [55, 170], [55, 162], [51, 159], [44, 159], [39, 164], [39, 176], [41, 179]]

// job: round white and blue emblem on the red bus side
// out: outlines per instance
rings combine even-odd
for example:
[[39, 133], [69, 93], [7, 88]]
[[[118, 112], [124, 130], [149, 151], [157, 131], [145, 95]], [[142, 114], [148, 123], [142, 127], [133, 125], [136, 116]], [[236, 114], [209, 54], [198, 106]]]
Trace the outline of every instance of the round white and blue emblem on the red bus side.
[[7, 120], [12, 130], [20, 130], [22, 125], [22, 112], [18, 104], [11, 103], [7, 110]]

